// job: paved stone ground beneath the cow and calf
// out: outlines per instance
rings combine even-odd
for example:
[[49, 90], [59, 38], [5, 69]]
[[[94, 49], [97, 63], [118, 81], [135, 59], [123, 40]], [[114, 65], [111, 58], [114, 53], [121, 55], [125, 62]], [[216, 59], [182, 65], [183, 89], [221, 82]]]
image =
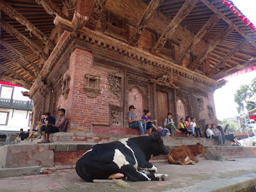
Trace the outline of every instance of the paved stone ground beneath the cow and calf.
[[[155, 163], [159, 173], [167, 173], [164, 181], [129, 182], [130, 188], [113, 183], [84, 182], [75, 170], [58, 170], [49, 175], [31, 175], [0, 179], [0, 191], [239, 191], [242, 184], [256, 186], [256, 157], [212, 161], [200, 158], [195, 165]], [[242, 182], [242, 183], [240, 183]], [[233, 185], [233, 186], [232, 186]], [[227, 187], [228, 186], [228, 187]], [[240, 186], [237, 187], [237, 186]], [[243, 188], [244, 188], [243, 187]], [[222, 188], [220, 190], [220, 188]], [[218, 190], [219, 189], [219, 190]]]

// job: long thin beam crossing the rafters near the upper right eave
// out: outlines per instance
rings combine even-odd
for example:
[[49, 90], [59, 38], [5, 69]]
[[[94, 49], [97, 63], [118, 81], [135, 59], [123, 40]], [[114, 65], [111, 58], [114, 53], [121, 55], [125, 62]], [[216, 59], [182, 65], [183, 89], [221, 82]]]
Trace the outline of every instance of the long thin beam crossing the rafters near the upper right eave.
[[[218, 10], [215, 6], [213, 6], [211, 3], [209, 3], [209, 1], [207, 0], [200, 0], [202, 1], [202, 3], [204, 3], [210, 10], [212, 10], [212, 12], [217, 13], [221, 16], [221, 19], [223, 19], [225, 22], [227, 22], [227, 24], [234, 26], [234, 29], [236, 29], [236, 31], [238, 33], [240, 33], [244, 38], [250, 40], [250, 43], [256, 47], [256, 42], [250, 38], [250, 36], [246, 35], [246, 33], [244, 33], [241, 29], [239, 29], [239, 27], [237, 27], [231, 20], [229, 20], [223, 13], [220, 12], [220, 10]], [[249, 27], [248, 27], [249, 28]]]

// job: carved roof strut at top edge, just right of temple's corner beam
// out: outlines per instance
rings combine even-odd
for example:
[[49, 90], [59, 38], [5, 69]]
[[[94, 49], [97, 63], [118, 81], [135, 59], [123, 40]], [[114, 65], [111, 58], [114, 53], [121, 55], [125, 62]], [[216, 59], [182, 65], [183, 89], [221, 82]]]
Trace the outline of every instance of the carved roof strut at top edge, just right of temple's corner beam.
[[86, 23], [86, 28], [95, 29], [97, 22], [100, 17], [100, 13], [104, 10], [104, 6], [106, 4], [106, 0], [94, 0], [92, 6], [92, 13]]

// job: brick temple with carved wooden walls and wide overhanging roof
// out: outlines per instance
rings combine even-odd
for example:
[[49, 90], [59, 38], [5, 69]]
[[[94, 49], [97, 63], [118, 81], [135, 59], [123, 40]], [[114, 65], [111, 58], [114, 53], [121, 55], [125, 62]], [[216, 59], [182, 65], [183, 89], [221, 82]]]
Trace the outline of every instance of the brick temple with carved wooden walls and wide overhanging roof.
[[228, 4], [0, 0], [0, 80], [29, 89], [32, 126], [65, 108], [67, 132], [138, 134], [130, 105], [159, 126], [169, 112], [217, 123], [217, 80], [256, 61], [256, 29]]

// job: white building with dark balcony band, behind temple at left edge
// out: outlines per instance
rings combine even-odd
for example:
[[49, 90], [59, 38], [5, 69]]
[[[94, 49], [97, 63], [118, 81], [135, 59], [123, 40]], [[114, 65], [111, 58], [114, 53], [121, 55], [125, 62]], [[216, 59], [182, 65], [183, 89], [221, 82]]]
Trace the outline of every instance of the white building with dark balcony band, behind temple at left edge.
[[30, 129], [33, 103], [22, 92], [28, 90], [0, 81], [0, 132]]

